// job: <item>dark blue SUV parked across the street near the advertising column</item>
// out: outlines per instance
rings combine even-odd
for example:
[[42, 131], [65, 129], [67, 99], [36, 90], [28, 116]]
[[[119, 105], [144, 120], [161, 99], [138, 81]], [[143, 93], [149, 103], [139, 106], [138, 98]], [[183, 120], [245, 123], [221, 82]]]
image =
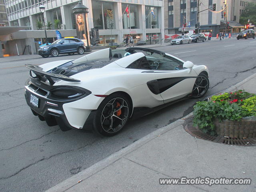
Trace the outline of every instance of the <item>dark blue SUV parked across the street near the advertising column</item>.
[[77, 38], [64, 38], [54, 41], [50, 45], [42, 46], [38, 49], [38, 55], [47, 58], [49, 55], [58, 57], [59, 54], [73, 55], [78, 53], [84, 54], [84, 42]]

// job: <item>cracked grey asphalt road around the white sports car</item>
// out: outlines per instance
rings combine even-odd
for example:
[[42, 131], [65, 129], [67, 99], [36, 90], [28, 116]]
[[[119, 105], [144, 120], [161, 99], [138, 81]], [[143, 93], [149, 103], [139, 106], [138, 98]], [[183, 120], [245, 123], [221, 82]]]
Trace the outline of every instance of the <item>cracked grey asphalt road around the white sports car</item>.
[[[205, 64], [210, 70], [207, 95], [224, 90], [256, 73], [256, 40], [225, 39], [156, 47], [182, 60]], [[0, 191], [42, 192], [192, 112], [196, 99], [188, 99], [130, 121], [114, 137], [48, 127], [34, 116], [24, 99], [28, 69], [60, 59], [38, 58], [1, 63], [0, 60]], [[175, 154], [174, 154], [175, 155]], [[110, 178], [111, 179], [111, 178]]]

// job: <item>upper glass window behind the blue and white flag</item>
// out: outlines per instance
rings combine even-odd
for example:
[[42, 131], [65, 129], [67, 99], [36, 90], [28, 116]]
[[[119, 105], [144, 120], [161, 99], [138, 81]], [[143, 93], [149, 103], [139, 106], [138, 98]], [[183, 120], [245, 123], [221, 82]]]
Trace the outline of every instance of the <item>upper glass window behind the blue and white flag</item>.
[[146, 16], [146, 29], [159, 28], [157, 7], [145, 6], [145, 16]]

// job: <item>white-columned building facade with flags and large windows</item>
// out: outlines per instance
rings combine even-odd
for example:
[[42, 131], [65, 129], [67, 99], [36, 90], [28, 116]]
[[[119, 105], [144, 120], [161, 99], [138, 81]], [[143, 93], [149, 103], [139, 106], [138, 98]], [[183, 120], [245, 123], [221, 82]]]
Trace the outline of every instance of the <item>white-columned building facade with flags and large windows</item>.
[[[52, 23], [53, 30], [76, 29], [72, 8], [78, 0], [6, 0], [5, 4], [10, 26], [37, 30], [37, 22], [44, 18], [46, 24]], [[46, 7], [44, 14], [40, 4]], [[82, 0], [82, 4], [89, 8], [89, 28], [98, 28], [102, 45], [123, 42], [126, 34], [132, 35], [135, 43], [149, 40], [150, 36], [160, 39], [164, 31], [162, 0]]]

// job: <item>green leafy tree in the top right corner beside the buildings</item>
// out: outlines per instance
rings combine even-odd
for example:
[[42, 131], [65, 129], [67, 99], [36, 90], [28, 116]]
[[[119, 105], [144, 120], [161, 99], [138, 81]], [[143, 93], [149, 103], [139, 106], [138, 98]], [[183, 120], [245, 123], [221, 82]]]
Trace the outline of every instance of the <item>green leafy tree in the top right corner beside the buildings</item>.
[[252, 25], [256, 24], [256, 3], [248, 2], [248, 6], [245, 7], [244, 13], [240, 16], [239, 23], [248, 24], [248, 19]]

